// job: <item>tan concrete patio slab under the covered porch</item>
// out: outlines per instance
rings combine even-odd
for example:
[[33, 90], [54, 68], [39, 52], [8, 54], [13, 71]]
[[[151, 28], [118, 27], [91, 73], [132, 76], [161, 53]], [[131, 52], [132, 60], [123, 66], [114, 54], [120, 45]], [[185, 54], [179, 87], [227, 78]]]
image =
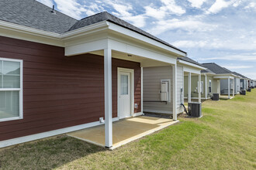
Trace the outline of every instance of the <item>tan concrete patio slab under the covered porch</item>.
[[[178, 121], [158, 117], [132, 117], [121, 121], [116, 121], [112, 125], [113, 145], [111, 149], [118, 148], [130, 141], [142, 138], [147, 134], [159, 131]], [[105, 147], [105, 128], [104, 125], [94, 128], [87, 128], [67, 134], [71, 137], [88, 141], [89, 143]]]

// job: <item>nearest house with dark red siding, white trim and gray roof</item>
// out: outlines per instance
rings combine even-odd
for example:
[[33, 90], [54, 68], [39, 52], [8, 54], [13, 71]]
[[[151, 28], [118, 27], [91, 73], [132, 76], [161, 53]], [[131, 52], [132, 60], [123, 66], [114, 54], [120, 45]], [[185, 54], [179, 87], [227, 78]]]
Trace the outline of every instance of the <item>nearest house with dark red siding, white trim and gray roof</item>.
[[168, 72], [161, 80], [177, 120], [183, 75], [202, 70], [185, 56], [108, 12], [76, 20], [33, 0], [2, 0], [0, 148], [100, 124], [111, 148], [112, 122], [147, 108], [151, 68]]

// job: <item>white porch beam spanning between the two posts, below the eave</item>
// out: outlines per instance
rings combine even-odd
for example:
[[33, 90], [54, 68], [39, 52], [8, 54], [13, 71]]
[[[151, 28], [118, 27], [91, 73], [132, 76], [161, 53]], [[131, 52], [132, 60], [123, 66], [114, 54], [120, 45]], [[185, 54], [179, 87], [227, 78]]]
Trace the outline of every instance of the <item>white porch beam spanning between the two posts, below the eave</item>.
[[153, 50], [146, 49], [143, 46], [135, 46], [128, 42], [119, 42], [115, 39], [109, 39], [109, 46], [112, 50], [122, 53], [129, 53], [136, 56], [142, 56], [147, 59], [154, 59], [164, 63], [176, 64], [176, 57], [166, 56]]

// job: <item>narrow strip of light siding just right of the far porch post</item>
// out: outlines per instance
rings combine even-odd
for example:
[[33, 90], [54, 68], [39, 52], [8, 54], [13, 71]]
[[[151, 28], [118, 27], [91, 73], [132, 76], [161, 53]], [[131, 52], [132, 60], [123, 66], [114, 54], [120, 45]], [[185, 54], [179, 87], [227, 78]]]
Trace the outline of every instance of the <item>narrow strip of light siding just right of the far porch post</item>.
[[[181, 93], [181, 88], [184, 89], [183, 66], [177, 66], [177, 113], [183, 112], [181, 101], [182, 103], [184, 103], [184, 90]], [[182, 99], [181, 99], [181, 94], [182, 94]]]

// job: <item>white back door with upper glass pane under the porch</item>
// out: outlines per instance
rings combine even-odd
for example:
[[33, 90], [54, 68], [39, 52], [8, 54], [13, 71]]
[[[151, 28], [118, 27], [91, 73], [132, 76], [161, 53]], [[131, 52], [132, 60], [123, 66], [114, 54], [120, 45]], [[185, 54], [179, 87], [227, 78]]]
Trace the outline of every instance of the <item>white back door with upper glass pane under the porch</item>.
[[130, 73], [119, 73], [119, 118], [131, 116]]

